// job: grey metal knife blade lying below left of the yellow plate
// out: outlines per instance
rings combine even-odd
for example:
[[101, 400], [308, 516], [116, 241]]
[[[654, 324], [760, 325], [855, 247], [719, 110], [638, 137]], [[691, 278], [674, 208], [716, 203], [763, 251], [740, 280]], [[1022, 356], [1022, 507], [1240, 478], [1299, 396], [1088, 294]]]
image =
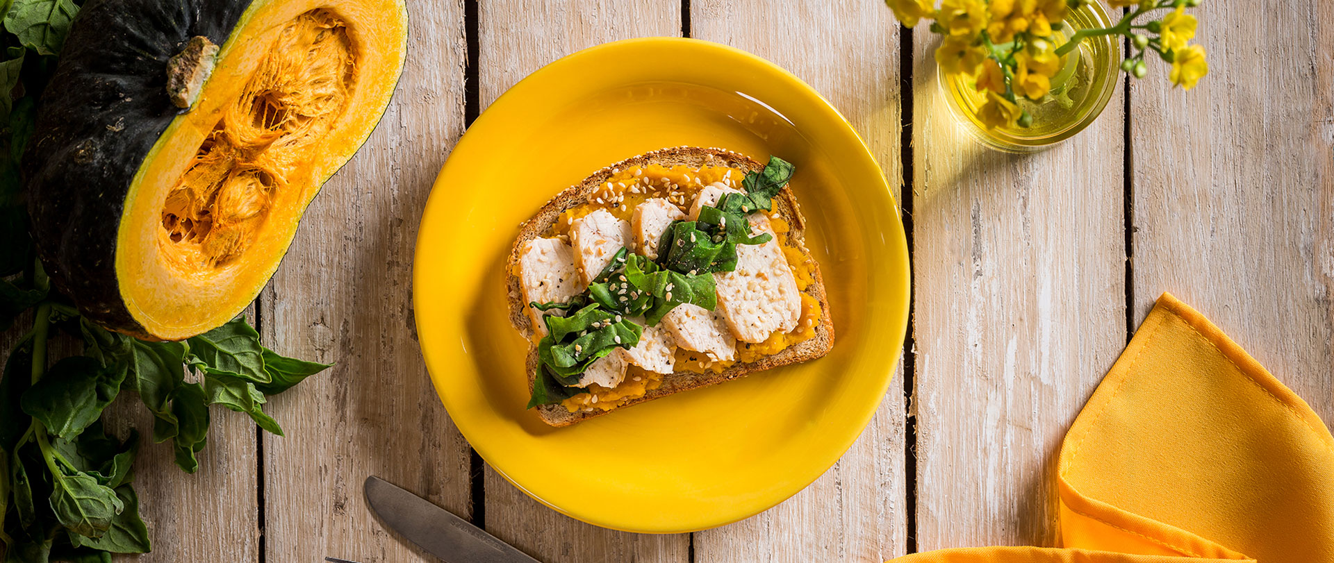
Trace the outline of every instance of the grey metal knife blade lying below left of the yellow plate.
[[538, 563], [468, 520], [378, 476], [366, 478], [366, 502], [386, 527], [446, 563]]

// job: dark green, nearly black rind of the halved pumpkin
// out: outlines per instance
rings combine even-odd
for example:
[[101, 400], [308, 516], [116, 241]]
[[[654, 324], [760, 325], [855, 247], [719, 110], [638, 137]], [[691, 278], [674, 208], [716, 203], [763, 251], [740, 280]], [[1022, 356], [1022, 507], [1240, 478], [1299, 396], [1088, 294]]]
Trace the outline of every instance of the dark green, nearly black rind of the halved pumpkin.
[[183, 109], [167, 60], [227, 41], [251, 0], [92, 0], [76, 17], [23, 157], [32, 233], [52, 283], [107, 328], [152, 338], [120, 295], [116, 240], [131, 181]]

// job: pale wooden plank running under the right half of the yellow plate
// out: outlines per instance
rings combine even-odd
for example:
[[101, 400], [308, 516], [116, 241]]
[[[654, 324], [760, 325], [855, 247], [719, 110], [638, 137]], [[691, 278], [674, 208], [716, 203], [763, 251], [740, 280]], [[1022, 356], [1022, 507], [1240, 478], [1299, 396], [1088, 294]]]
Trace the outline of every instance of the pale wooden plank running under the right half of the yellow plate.
[[[899, 35], [884, 5], [695, 0], [691, 36], [754, 52], [815, 87], [867, 140], [890, 184], [898, 187], [903, 177]], [[828, 472], [770, 511], [695, 534], [695, 560], [874, 562], [902, 555], [907, 531], [900, 376], [895, 374], [870, 426]]]

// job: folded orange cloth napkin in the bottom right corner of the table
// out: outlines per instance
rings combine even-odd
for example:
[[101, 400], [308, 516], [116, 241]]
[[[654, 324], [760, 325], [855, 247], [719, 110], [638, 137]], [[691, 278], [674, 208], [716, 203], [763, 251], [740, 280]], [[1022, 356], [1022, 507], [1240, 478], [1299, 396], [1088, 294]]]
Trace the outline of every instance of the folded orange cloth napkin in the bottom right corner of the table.
[[1334, 562], [1334, 438], [1311, 408], [1169, 294], [1061, 447], [1065, 548], [894, 563]]

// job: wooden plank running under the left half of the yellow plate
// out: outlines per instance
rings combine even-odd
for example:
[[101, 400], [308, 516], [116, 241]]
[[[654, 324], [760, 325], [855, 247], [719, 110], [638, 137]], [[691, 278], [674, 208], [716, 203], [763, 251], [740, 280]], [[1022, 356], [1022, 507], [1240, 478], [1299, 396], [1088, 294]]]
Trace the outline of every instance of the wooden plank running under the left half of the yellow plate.
[[[490, 0], [478, 4], [479, 97], [486, 109], [516, 81], [575, 51], [628, 37], [679, 36], [679, 3]], [[686, 562], [688, 535], [599, 528], [539, 504], [486, 468], [486, 528], [547, 562]]]

